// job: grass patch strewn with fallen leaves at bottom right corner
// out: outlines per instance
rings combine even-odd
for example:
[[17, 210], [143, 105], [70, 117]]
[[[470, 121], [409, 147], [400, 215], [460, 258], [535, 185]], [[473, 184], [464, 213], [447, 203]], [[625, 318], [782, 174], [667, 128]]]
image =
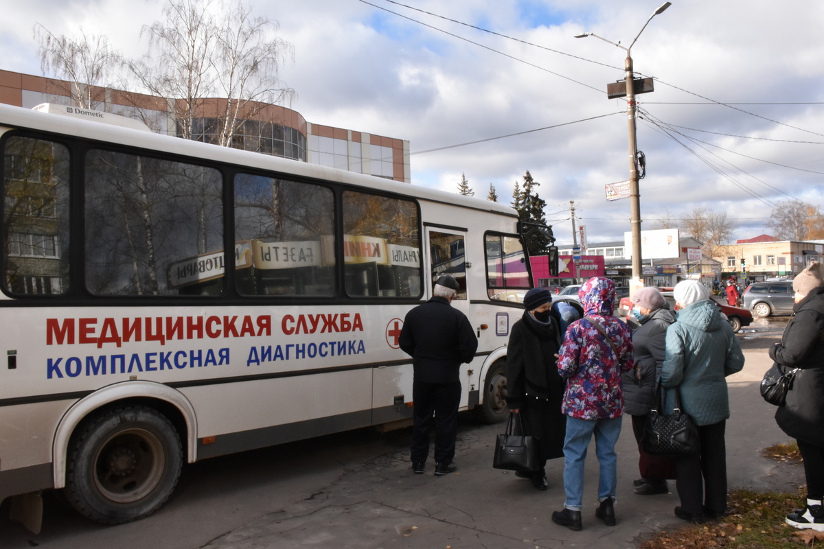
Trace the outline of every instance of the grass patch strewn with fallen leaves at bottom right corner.
[[[641, 542], [640, 549], [799, 549], [807, 533], [784, 523], [784, 517], [803, 501], [800, 493], [733, 490], [728, 505], [734, 513], [705, 524], [661, 532]], [[824, 540], [820, 541], [824, 547]]]

